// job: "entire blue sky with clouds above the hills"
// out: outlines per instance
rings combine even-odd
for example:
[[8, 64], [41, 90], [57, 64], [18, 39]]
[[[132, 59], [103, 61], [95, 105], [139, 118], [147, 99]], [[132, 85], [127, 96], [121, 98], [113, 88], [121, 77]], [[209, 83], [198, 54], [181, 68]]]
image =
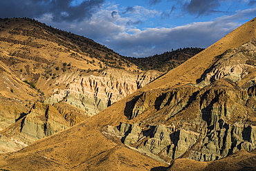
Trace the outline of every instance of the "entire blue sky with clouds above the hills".
[[0, 18], [28, 17], [127, 57], [207, 48], [256, 17], [254, 0], [0, 0]]

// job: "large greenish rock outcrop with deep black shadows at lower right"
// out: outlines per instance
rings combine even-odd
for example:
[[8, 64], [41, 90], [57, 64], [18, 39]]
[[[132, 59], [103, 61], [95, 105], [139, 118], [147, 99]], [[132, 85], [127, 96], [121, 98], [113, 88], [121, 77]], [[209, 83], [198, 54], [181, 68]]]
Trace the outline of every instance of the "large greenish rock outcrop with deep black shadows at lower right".
[[[146, 119], [120, 123], [122, 143], [166, 162], [181, 157], [214, 161], [238, 150], [255, 150], [256, 125], [246, 122], [253, 111], [244, 107], [248, 94], [231, 86], [221, 80], [202, 90], [186, 86], [159, 96], [142, 94], [127, 117], [133, 121], [140, 114]], [[149, 108], [157, 110], [154, 118]]]

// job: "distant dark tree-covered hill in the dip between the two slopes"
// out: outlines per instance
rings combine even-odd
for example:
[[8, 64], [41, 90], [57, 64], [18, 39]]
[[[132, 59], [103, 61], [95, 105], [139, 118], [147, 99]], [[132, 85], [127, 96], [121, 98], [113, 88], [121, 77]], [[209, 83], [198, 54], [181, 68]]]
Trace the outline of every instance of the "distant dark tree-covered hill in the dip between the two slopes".
[[179, 48], [177, 50], [172, 50], [172, 52], [155, 54], [151, 57], [126, 57], [126, 59], [127, 61], [136, 64], [140, 70], [158, 70], [161, 72], [167, 72], [181, 65], [181, 63], [187, 61], [202, 50], [203, 48]]

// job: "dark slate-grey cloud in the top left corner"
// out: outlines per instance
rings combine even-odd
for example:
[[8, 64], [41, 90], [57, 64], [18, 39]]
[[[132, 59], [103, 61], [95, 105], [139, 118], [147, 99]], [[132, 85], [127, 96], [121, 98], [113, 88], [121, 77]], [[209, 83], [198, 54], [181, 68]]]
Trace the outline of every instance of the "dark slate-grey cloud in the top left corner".
[[86, 0], [71, 6], [73, 0], [1, 0], [0, 17], [41, 17], [53, 14], [53, 21], [82, 21], [90, 18], [104, 0]]

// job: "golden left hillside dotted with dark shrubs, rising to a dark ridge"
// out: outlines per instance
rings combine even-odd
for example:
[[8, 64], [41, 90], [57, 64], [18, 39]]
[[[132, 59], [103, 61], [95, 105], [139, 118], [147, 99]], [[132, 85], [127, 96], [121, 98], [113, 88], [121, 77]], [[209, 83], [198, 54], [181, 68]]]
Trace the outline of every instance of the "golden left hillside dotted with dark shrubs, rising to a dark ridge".
[[0, 28], [1, 62], [46, 97], [54, 88], [70, 83], [54, 86], [55, 79], [63, 74], [102, 72], [107, 67], [137, 71], [134, 64], [91, 39], [32, 19], [0, 19]]

